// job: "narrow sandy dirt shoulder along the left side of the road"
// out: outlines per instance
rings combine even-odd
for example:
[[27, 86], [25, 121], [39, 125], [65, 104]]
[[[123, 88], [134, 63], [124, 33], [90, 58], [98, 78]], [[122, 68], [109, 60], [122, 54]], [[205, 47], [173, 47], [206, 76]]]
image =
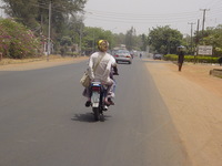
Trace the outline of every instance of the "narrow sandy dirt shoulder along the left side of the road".
[[69, 63], [77, 63], [79, 61], [88, 60], [89, 56], [77, 56], [77, 58], [61, 58], [61, 56], [53, 56], [47, 59], [33, 59], [33, 60], [17, 60], [12, 61], [8, 64], [1, 64], [0, 71], [24, 71], [24, 70], [34, 70], [34, 69], [42, 69], [42, 68], [50, 68], [54, 65], [62, 65]]

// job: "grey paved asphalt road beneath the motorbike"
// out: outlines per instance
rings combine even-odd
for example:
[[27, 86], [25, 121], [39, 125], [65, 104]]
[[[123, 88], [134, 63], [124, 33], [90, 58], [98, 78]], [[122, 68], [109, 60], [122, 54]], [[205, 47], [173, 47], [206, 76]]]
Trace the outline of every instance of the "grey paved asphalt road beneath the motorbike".
[[119, 64], [104, 122], [83, 106], [85, 65], [0, 72], [0, 166], [191, 165], [143, 61]]

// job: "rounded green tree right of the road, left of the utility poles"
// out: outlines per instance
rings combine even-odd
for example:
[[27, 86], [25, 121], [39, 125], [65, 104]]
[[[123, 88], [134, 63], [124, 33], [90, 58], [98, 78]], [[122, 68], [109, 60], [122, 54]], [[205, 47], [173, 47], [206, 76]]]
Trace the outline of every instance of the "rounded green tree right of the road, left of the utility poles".
[[176, 46], [182, 42], [182, 34], [169, 25], [153, 28], [150, 31], [148, 43], [158, 53], [175, 53]]

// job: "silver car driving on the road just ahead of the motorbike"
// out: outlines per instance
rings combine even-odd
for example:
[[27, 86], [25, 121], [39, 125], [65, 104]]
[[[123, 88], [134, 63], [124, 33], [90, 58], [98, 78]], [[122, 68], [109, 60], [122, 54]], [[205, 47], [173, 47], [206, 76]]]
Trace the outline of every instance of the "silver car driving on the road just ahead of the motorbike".
[[117, 63], [119, 62], [128, 62], [129, 64], [132, 63], [132, 55], [128, 50], [118, 50], [113, 56]]

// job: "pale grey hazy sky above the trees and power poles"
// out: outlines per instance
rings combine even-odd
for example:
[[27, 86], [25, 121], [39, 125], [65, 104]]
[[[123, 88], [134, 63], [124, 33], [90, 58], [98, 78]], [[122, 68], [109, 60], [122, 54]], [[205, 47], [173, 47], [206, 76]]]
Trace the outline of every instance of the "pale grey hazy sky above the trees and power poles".
[[149, 28], [170, 25], [190, 34], [191, 24], [196, 30], [198, 19], [202, 29], [203, 11], [205, 28], [222, 24], [222, 0], [88, 0], [87, 27], [99, 27], [114, 33], [125, 33], [131, 27], [137, 34], [148, 34]]

